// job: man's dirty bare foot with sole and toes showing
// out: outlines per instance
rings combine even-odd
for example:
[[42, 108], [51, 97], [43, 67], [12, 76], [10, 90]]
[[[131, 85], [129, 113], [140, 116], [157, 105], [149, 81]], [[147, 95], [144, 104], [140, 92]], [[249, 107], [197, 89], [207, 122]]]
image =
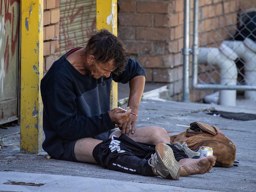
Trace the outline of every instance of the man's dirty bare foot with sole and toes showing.
[[205, 174], [215, 165], [216, 156], [202, 157], [200, 159], [181, 159], [180, 176]]

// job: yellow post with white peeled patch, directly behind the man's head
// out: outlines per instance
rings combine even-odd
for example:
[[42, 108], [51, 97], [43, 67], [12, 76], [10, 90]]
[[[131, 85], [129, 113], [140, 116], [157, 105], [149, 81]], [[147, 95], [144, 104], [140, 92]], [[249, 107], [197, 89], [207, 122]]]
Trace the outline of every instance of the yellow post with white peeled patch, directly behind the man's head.
[[[107, 29], [117, 36], [117, 0], [96, 0], [96, 28]], [[110, 104], [117, 107], [117, 83], [112, 81]]]

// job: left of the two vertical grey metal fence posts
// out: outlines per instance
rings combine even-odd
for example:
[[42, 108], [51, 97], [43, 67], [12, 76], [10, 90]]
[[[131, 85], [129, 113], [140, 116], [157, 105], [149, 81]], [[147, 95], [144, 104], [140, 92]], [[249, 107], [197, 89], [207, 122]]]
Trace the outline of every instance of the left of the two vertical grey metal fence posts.
[[183, 102], [189, 102], [189, 22], [190, 0], [184, 0]]

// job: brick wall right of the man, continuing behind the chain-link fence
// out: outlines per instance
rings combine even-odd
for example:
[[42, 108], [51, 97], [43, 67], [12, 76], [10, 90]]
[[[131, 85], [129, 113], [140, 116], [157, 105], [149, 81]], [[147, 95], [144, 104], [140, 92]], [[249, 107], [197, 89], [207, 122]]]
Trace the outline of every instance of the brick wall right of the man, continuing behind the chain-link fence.
[[[250, 5], [244, 3], [248, 1], [254, 0], [239, 0], [246, 6]], [[171, 99], [182, 100], [183, 62], [180, 50], [183, 48], [184, 0], [119, 0], [118, 4], [119, 37], [130, 55], [144, 66], [146, 81], [168, 82]], [[200, 46], [218, 46], [234, 35], [238, 12], [236, 0], [200, 0], [199, 6]], [[192, 20], [193, 0], [191, 36]], [[204, 74], [199, 75], [204, 78]], [[213, 78], [218, 78], [217, 73]], [[205, 80], [209, 83], [208, 78]], [[191, 101], [198, 101], [211, 92], [191, 90]]]

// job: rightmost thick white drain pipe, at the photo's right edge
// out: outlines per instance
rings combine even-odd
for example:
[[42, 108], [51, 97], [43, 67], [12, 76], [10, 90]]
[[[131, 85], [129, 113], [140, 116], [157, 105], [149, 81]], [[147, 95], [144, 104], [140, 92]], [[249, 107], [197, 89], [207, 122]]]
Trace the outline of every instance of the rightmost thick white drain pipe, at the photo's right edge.
[[[247, 85], [256, 85], [256, 43], [250, 38], [244, 41], [223, 41], [243, 59], [245, 64], [245, 82]], [[246, 90], [245, 99], [256, 100], [256, 91]]]

